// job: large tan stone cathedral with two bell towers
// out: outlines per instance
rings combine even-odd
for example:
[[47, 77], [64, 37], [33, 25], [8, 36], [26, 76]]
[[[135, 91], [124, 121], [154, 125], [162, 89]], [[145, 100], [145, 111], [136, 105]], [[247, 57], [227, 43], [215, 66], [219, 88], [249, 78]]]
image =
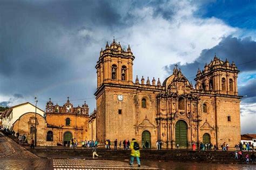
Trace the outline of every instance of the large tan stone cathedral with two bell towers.
[[97, 112], [95, 133], [99, 142], [136, 138], [140, 146], [191, 148], [224, 142], [234, 147], [240, 141], [239, 70], [216, 55], [198, 69], [192, 85], [177, 65], [163, 83], [159, 78], [136, 77], [133, 53], [115, 40], [100, 51], [96, 64]]

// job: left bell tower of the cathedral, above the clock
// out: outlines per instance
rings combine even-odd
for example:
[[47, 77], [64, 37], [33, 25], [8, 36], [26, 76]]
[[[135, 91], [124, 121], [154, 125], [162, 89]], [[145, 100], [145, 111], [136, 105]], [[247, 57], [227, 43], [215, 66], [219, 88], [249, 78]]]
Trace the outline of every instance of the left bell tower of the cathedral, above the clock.
[[133, 53], [130, 45], [122, 49], [120, 43], [106, 43], [105, 50], [100, 51], [97, 70], [97, 89], [103, 84], [133, 85], [132, 66]]

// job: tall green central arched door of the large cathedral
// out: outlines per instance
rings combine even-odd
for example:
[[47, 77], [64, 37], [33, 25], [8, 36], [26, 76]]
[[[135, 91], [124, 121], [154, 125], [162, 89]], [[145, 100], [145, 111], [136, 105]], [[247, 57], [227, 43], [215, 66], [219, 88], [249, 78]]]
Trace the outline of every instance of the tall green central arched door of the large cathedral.
[[179, 144], [180, 148], [187, 148], [187, 124], [185, 121], [179, 120], [175, 126], [176, 146]]

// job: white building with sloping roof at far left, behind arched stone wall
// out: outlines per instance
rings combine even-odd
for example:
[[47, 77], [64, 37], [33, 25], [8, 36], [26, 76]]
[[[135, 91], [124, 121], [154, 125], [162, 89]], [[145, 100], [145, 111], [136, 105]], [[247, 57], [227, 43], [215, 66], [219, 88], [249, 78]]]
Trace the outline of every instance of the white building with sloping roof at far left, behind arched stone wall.
[[44, 116], [45, 113], [43, 110], [38, 107], [36, 108], [36, 106], [29, 102], [12, 106], [2, 114], [2, 126], [3, 128], [9, 128], [9, 130], [12, 130], [12, 124], [14, 124], [15, 121], [21, 117], [21, 115], [35, 112], [42, 116]]

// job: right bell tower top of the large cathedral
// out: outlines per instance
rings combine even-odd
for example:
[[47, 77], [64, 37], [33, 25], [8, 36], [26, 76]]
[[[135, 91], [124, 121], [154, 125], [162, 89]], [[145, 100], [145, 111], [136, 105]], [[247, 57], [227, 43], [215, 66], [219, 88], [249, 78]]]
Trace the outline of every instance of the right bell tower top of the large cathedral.
[[237, 77], [239, 70], [232, 62], [220, 60], [216, 55], [210, 64], [205, 64], [204, 70], [198, 69], [196, 90], [211, 91], [218, 94], [238, 96]]

